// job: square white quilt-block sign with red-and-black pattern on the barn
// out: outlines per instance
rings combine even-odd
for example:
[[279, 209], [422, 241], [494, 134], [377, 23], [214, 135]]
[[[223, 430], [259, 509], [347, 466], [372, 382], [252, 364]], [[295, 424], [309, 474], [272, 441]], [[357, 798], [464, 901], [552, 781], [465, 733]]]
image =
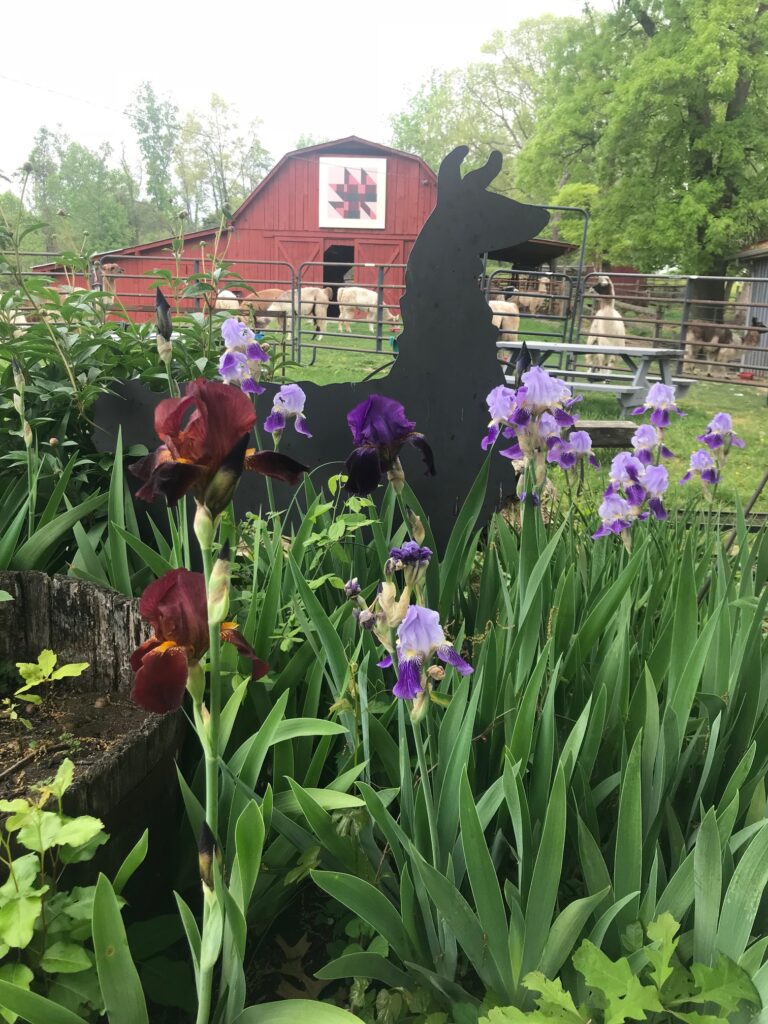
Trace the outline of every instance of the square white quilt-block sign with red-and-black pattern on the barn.
[[319, 227], [384, 227], [387, 162], [319, 158]]

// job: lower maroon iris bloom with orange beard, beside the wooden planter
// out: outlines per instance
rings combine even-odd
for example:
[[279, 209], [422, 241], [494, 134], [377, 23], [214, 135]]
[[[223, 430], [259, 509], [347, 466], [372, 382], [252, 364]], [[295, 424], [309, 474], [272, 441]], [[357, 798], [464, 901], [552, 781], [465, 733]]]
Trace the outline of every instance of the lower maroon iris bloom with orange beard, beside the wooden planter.
[[[166, 572], [146, 588], [138, 610], [155, 632], [131, 654], [131, 696], [140, 708], [163, 715], [181, 707], [189, 667], [208, 650], [205, 577], [188, 569]], [[221, 639], [251, 660], [252, 679], [268, 671], [234, 623], [221, 624]]]

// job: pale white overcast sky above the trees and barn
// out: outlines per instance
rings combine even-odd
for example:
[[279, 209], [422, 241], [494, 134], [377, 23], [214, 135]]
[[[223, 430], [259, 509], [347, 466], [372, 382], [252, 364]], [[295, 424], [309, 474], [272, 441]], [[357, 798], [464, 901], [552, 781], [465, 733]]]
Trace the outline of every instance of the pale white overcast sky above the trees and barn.
[[583, 0], [229, 0], [220, 7], [6, 0], [0, 172], [20, 166], [41, 125], [60, 126], [91, 147], [126, 147], [134, 158], [123, 112], [145, 80], [184, 112], [205, 109], [218, 92], [244, 125], [262, 121], [261, 140], [275, 160], [302, 132], [387, 142], [390, 117], [433, 69], [478, 58], [495, 29], [512, 29], [521, 17], [582, 7]]

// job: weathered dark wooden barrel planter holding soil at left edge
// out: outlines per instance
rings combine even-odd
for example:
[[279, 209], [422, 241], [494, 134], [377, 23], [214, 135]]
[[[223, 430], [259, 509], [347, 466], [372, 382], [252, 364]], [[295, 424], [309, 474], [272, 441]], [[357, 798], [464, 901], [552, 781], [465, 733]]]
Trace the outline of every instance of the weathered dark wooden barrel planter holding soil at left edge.
[[[89, 741], [88, 756], [81, 754], [82, 763], [77, 733], [72, 750], [54, 745], [55, 758], [48, 758], [45, 774], [52, 775], [57, 763], [72, 758], [75, 780], [66, 795], [65, 810], [101, 818], [112, 836], [104, 848], [108, 861], [119, 863], [145, 827], [155, 824], [167, 829], [170, 820], [177, 818], [174, 760], [183, 718], [142, 712], [129, 698], [130, 654], [148, 636], [150, 628], [138, 613], [137, 601], [70, 577], [0, 572], [0, 590], [13, 597], [0, 603], [0, 662], [34, 662], [47, 647], [58, 656], [59, 665], [89, 664], [82, 676], [55, 684], [55, 695], [51, 690], [48, 698], [55, 702], [63, 694], [65, 728], [82, 714], [87, 724], [80, 735], [90, 736], [92, 730], [98, 738]], [[45, 686], [40, 696], [44, 709]], [[103, 720], [100, 708], [106, 709]], [[110, 725], [102, 727], [108, 715]], [[19, 746], [35, 736], [34, 714], [31, 718], [33, 730], [18, 734]], [[7, 753], [2, 760], [11, 763], [0, 764], [0, 774], [12, 767]], [[19, 773], [18, 778], [24, 791], [25, 776]], [[99, 861], [99, 866], [108, 866], [103, 858]]]

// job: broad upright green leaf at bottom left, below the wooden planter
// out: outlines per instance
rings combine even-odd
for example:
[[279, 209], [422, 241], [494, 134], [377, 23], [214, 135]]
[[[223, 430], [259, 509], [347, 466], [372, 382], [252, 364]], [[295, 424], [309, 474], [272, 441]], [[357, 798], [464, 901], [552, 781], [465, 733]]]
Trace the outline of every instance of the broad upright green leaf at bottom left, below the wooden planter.
[[103, 874], [93, 900], [93, 950], [110, 1024], [150, 1024], [118, 900]]

